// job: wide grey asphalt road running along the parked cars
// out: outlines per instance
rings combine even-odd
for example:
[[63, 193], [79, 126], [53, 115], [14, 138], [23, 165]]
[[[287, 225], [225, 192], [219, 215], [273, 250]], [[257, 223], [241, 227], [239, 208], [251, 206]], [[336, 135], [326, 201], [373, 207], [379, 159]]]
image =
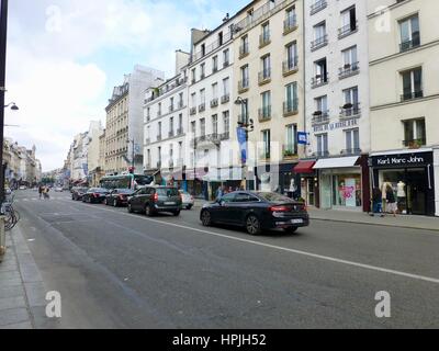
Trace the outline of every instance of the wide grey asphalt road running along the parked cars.
[[[290, 236], [18, 192], [60, 328], [438, 328], [439, 233], [314, 220]], [[375, 294], [391, 295], [391, 318]], [[44, 327], [44, 318], [40, 320]]]

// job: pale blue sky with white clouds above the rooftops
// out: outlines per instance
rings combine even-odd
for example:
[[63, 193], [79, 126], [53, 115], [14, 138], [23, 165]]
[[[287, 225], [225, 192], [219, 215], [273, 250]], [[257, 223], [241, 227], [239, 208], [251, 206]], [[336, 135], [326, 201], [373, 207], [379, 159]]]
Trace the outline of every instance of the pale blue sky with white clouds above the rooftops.
[[75, 135], [105, 124], [123, 75], [140, 64], [173, 75], [190, 30], [215, 29], [249, 0], [10, 0], [5, 137], [61, 168]]

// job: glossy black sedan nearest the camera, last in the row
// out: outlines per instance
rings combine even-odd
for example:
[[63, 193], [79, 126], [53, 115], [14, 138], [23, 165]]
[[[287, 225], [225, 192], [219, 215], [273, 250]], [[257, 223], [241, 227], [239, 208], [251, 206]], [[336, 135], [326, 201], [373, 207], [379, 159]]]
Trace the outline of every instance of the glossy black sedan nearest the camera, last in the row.
[[271, 192], [229, 193], [214, 203], [205, 204], [200, 219], [203, 226], [241, 226], [250, 235], [271, 229], [283, 229], [292, 234], [309, 225], [305, 204]]

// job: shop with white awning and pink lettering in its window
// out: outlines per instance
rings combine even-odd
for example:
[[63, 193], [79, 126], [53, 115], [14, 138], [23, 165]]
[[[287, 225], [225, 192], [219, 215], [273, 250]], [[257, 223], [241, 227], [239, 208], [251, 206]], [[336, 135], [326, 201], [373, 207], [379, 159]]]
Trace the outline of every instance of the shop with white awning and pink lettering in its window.
[[367, 157], [320, 159], [318, 171], [320, 208], [369, 211], [369, 172]]

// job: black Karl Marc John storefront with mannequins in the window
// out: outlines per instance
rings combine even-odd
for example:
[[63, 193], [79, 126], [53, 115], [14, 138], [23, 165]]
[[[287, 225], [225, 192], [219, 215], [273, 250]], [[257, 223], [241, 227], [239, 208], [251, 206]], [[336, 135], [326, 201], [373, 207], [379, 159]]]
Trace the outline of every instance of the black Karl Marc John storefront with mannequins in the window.
[[432, 149], [397, 150], [373, 154], [372, 188], [387, 184], [397, 199], [398, 213], [435, 215], [435, 174]]

